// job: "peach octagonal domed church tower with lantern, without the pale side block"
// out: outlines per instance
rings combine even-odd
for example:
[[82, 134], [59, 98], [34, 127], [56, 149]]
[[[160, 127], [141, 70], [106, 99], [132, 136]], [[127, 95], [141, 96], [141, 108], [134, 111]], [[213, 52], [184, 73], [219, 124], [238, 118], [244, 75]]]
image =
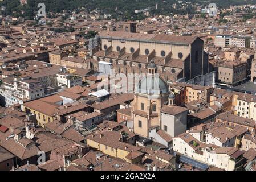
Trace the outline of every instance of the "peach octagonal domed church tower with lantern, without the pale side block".
[[137, 85], [132, 102], [134, 131], [147, 138], [150, 127], [160, 126], [161, 107], [170, 94], [168, 85], [156, 72], [156, 64], [152, 61], [148, 65], [147, 76]]

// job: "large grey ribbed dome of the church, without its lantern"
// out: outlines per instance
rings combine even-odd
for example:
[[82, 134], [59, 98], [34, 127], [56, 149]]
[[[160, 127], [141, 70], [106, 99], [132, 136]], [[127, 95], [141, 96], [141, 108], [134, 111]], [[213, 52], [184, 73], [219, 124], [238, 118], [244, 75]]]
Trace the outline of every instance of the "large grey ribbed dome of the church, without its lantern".
[[137, 85], [136, 93], [160, 95], [169, 93], [169, 87], [158, 75], [147, 75], [143, 77]]

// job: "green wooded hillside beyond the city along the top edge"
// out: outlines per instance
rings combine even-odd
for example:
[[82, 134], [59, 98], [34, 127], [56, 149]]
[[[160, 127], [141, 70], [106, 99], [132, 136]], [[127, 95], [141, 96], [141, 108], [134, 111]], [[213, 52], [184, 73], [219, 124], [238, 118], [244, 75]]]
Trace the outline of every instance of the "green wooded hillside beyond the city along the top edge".
[[[0, 6], [5, 6], [6, 10], [1, 11], [2, 14], [23, 16], [31, 18], [34, 11], [38, 10], [37, 5], [40, 2], [45, 3], [47, 11], [62, 12], [62, 10], [75, 10], [80, 7], [85, 7], [87, 10], [100, 9], [103, 13], [112, 14], [114, 18], [117, 16], [135, 16], [136, 9], [151, 9], [152, 13], [169, 14], [169, 13], [193, 13], [192, 7], [186, 9], [177, 7], [173, 9], [173, 3], [179, 0], [27, 0], [27, 5], [22, 6], [19, 0], [4, 0], [0, 2]], [[208, 5], [214, 2], [218, 7], [229, 7], [230, 5], [243, 5], [253, 3], [256, 0], [183, 0], [182, 2], [199, 3], [200, 5]], [[159, 9], [156, 10], [156, 3]], [[178, 4], [178, 3], [177, 3]], [[21, 13], [23, 11], [23, 14]]]

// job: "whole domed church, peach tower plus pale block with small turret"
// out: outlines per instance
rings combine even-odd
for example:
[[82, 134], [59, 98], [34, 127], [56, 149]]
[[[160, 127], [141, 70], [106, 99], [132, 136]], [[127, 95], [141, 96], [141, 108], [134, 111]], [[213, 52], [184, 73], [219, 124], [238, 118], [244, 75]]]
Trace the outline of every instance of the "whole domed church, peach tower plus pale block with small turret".
[[171, 137], [184, 133], [188, 109], [176, 106], [174, 94], [170, 94], [169, 86], [157, 74], [153, 60], [147, 68], [147, 76], [137, 85], [132, 102], [134, 132], [146, 138], [151, 136], [149, 132], [154, 127]]

